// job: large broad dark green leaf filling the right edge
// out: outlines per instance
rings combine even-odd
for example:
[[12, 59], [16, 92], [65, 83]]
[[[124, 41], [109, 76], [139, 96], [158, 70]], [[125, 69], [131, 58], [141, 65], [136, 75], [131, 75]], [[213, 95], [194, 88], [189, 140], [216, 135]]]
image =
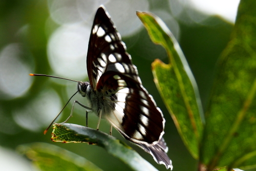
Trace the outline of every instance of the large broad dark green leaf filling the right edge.
[[242, 0], [222, 53], [206, 111], [200, 161], [215, 166], [256, 165], [256, 1]]

